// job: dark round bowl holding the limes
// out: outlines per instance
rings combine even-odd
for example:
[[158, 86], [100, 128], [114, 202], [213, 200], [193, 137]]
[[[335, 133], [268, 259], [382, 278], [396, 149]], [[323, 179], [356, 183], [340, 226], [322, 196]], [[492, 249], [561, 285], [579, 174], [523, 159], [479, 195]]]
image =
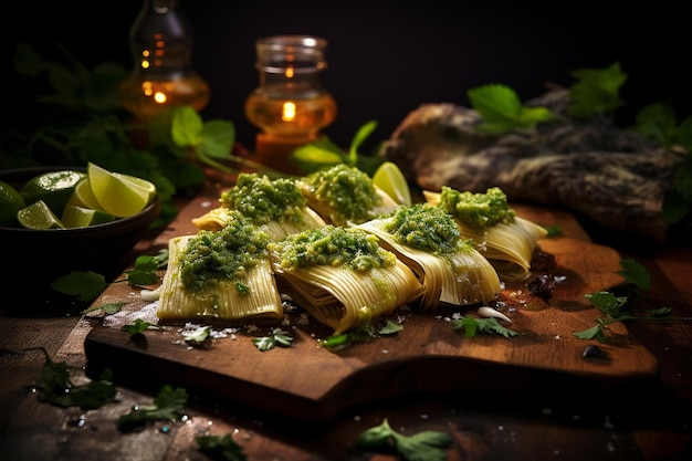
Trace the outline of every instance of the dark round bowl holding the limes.
[[[0, 171], [0, 180], [21, 188], [36, 175], [84, 168], [31, 167]], [[0, 254], [4, 282], [46, 284], [73, 270], [94, 271], [104, 276], [120, 265], [160, 213], [158, 197], [141, 212], [103, 224], [74, 229], [32, 230], [0, 227]], [[4, 283], [3, 283], [4, 284]]]

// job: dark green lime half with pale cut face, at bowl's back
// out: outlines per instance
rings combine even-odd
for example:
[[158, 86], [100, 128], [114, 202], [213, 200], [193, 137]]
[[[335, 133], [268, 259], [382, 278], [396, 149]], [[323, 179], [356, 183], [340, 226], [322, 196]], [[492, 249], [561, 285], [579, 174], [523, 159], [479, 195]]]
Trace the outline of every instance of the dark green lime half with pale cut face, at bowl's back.
[[27, 205], [43, 200], [55, 214], [61, 214], [75, 186], [85, 177], [83, 171], [49, 171], [31, 178], [19, 193]]

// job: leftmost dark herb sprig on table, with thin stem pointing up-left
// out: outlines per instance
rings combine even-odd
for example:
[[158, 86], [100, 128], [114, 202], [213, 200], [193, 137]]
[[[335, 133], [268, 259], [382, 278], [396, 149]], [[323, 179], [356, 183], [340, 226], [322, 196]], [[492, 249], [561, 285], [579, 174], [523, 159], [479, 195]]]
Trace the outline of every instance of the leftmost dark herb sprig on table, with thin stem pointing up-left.
[[45, 356], [45, 365], [41, 368], [41, 377], [35, 386], [40, 401], [62, 408], [80, 407], [90, 410], [115, 400], [116, 388], [109, 369], [104, 370], [97, 380], [76, 385], [71, 379], [71, 374], [81, 371], [81, 367], [67, 365], [66, 362], [53, 362], [43, 347], [33, 349], [43, 352]]

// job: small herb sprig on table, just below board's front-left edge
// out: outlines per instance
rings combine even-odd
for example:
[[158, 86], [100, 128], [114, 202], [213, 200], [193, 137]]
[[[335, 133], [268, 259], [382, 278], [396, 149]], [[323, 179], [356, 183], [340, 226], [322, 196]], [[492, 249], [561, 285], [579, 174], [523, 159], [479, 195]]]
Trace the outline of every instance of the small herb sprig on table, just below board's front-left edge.
[[184, 388], [164, 386], [151, 405], [135, 405], [129, 412], [122, 415], [116, 425], [120, 430], [129, 430], [149, 421], [175, 421], [185, 415], [188, 392]]

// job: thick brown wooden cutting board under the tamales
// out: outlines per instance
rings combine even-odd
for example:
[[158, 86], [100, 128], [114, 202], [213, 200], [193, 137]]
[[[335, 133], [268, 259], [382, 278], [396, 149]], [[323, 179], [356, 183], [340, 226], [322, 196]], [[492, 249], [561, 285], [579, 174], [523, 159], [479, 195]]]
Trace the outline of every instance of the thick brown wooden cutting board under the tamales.
[[[190, 219], [218, 206], [217, 184], [192, 200], [150, 249], [167, 248], [168, 239], [195, 233]], [[392, 319], [403, 331], [338, 352], [319, 346], [331, 331], [310, 319], [300, 322], [301, 311], [287, 314], [281, 325], [293, 338], [289, 348], [260, 352], [252, 337], [265, 336], [275, 327], [238, 329], [206, 346], [182, 342], [181, 325], [167, 325], [130, 338], [120, 328], [144, 317], [155, 322], [150, 303], [126, 284], [111, 285], [95, 305], [128, 301], [117, 315], [98, 322], [85, 339], [90, 374], [108, 367], [116, 383], [158, 389], [181, 386], [190, 392], [226, 400], [270, 413], [306, 421], [322, 421], [376, 400], [411, 395], [500, 391], [526, 396], [578, 386], [580, 394], [595, 397], [604, 388], [640, 386], [658, 376], [656, 358], [627, 332], [614, 325], [612, 342], [601, 345], [576, 338], [573, 333], [595, 325], [599, 312], [584, 295], [609, 290], [622, 279], [617, 274], [620, 255], [611, 248], [590, 242], [568, 213], [531, 206], [514, 206], [517, 214], [544, 226], [560, 226], [563, 234], [543, 239], [541, 249], [555, 256], [554, 275], [564, 275], [549, 303], [535, 302], [524, 285], [508, 286], [503, 296], [515, 301], [510, 327], [518, 333], [505, 338], [479, 335], [465, 338], [454, 332], [449, 318], [469, 313], [444, 307], [433, 313], [399, 310]], [[523, 301], [530, 301], [526, 306]], [[220, 332], [222, 326], [213, 325]], [[587, 345], [598, 345], [599, 358], [585, 358]]]

